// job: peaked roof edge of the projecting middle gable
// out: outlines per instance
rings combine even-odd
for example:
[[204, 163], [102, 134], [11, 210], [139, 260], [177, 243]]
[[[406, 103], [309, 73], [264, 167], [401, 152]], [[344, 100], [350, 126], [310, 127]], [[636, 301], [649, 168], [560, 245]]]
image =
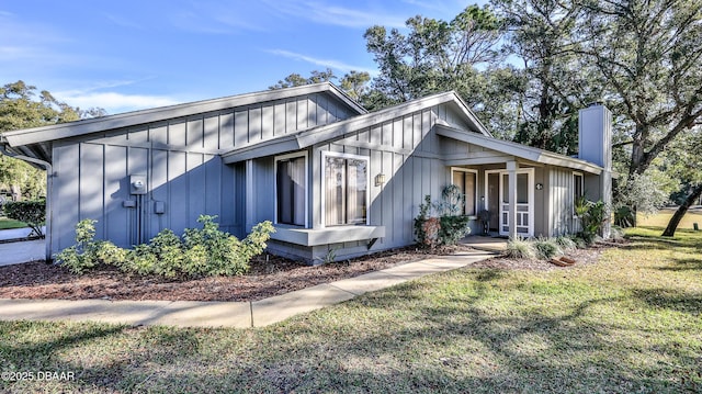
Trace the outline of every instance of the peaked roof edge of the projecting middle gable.
[[348, 133], [352, 133], [365, 127], [388, 122], [412, 112], [421, 111], [433, 105], [453, 103], [454, 108], [464, 115], [464, 120], [479, 134], [486, 138], [492, 138], [491, 134], [468, 109], [465, 102], [454, 91], [428, 95], [389, 106], [381, 111], [370, 112], [363, 115], [353, 116], [344, 121], [330, 123], [324, 126], [314, 127], [295, 134], [287, 134], [279, 138], [269, 139], [261, 143], [239, 146], [224, 155], [225, 162], [237, 162], [256, 157], [278, 155], [284, 151], [298, 150], [322, 142], [343, 138]]

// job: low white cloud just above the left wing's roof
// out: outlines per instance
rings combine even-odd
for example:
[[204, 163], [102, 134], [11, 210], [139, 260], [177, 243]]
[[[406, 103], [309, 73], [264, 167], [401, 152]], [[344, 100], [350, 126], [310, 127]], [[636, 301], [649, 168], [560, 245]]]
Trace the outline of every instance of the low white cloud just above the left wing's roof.
[[64, 91], [55, 92], [54, 97], [71, 106], [81, 109], [102, 108], [109, 114], [173, 105], [182, 102], [166, 95], [124, 94], [117, 92]]

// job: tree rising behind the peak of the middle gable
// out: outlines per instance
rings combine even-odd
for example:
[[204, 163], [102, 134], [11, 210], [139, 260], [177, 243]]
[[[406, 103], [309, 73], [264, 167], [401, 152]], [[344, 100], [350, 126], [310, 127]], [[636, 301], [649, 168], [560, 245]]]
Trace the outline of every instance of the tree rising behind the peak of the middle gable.
[[469, 5], [446, 22], [417, 15], [409, 33], [375, 25], [366, 30], [366, 48], [380, 74], [364, 97], [371, 109], [455, 90], [480, 120], [511, 136], [525, 80], [510, 65], [500, 65], [502, 21], [489, 7]]

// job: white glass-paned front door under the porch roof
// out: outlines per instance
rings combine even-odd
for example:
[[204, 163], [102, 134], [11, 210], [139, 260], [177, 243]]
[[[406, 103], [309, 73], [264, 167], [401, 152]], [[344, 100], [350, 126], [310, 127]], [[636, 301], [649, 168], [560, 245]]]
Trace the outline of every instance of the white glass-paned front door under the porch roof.
[[[487, 171], [486, 171], [487, 172]], [[490, 171], [492, 172], [492, 171]], [[499, 212], [499, 234], [509, 235], [509, 172], [499, 172], [499, 206], [488, 210]], [[489, 179], [487, 176], [485, 179]], [[534, 169], [517, 170], [517, 234], [522, 237], [534, 235]]]

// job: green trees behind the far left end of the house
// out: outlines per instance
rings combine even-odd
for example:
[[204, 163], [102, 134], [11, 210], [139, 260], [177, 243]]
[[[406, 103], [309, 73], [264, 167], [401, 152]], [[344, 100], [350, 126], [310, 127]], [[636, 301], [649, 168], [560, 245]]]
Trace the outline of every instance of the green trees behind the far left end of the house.
[[[84, 114], [102, 115], [104, 110], [90, 109]], [[0, 88], [0, 133], [77, 121], [81, 111], [56, 100], [43, 90], [19, 80]], [[24, 161], [0, 155], [0, 183], [12, 190], [13, 199], [37, 198], [45, 191], [44, 171]]]

